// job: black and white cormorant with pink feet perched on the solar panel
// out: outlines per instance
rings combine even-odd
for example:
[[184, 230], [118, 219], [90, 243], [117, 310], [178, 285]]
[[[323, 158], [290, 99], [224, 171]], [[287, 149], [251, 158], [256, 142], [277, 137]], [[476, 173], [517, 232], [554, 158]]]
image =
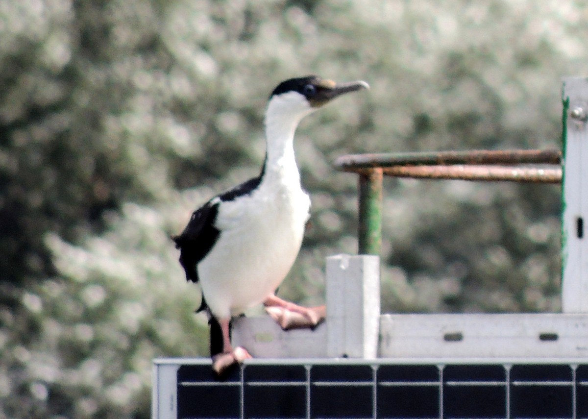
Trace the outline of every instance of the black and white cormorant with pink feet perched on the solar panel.
[[211, 316], [216, 373], [250, 357], [230, 344], [230, 320], [248, 308], [264, 303], [285, 329], [314, 327], [324, 319], [324, 307], [299, 307], [275, 295], [298, 255], [309, 218], [294, 132], [303, 117], [322, 105], [366, 88], [364, 81], [336, 84], [314, 75], [281, 82], [265, 112], [267, 148], [260, 175], [196, 209], [182, 234], [173, 238], [186, 278], [202, 287], [200, 310]]

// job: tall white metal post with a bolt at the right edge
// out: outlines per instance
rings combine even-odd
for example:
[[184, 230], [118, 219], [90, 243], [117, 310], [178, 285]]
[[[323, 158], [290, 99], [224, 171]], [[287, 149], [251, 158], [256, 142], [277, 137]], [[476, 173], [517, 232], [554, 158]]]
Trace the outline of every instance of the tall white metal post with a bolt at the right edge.
[[562, 310], [588, 312], [588, 79], [563, 80]]

